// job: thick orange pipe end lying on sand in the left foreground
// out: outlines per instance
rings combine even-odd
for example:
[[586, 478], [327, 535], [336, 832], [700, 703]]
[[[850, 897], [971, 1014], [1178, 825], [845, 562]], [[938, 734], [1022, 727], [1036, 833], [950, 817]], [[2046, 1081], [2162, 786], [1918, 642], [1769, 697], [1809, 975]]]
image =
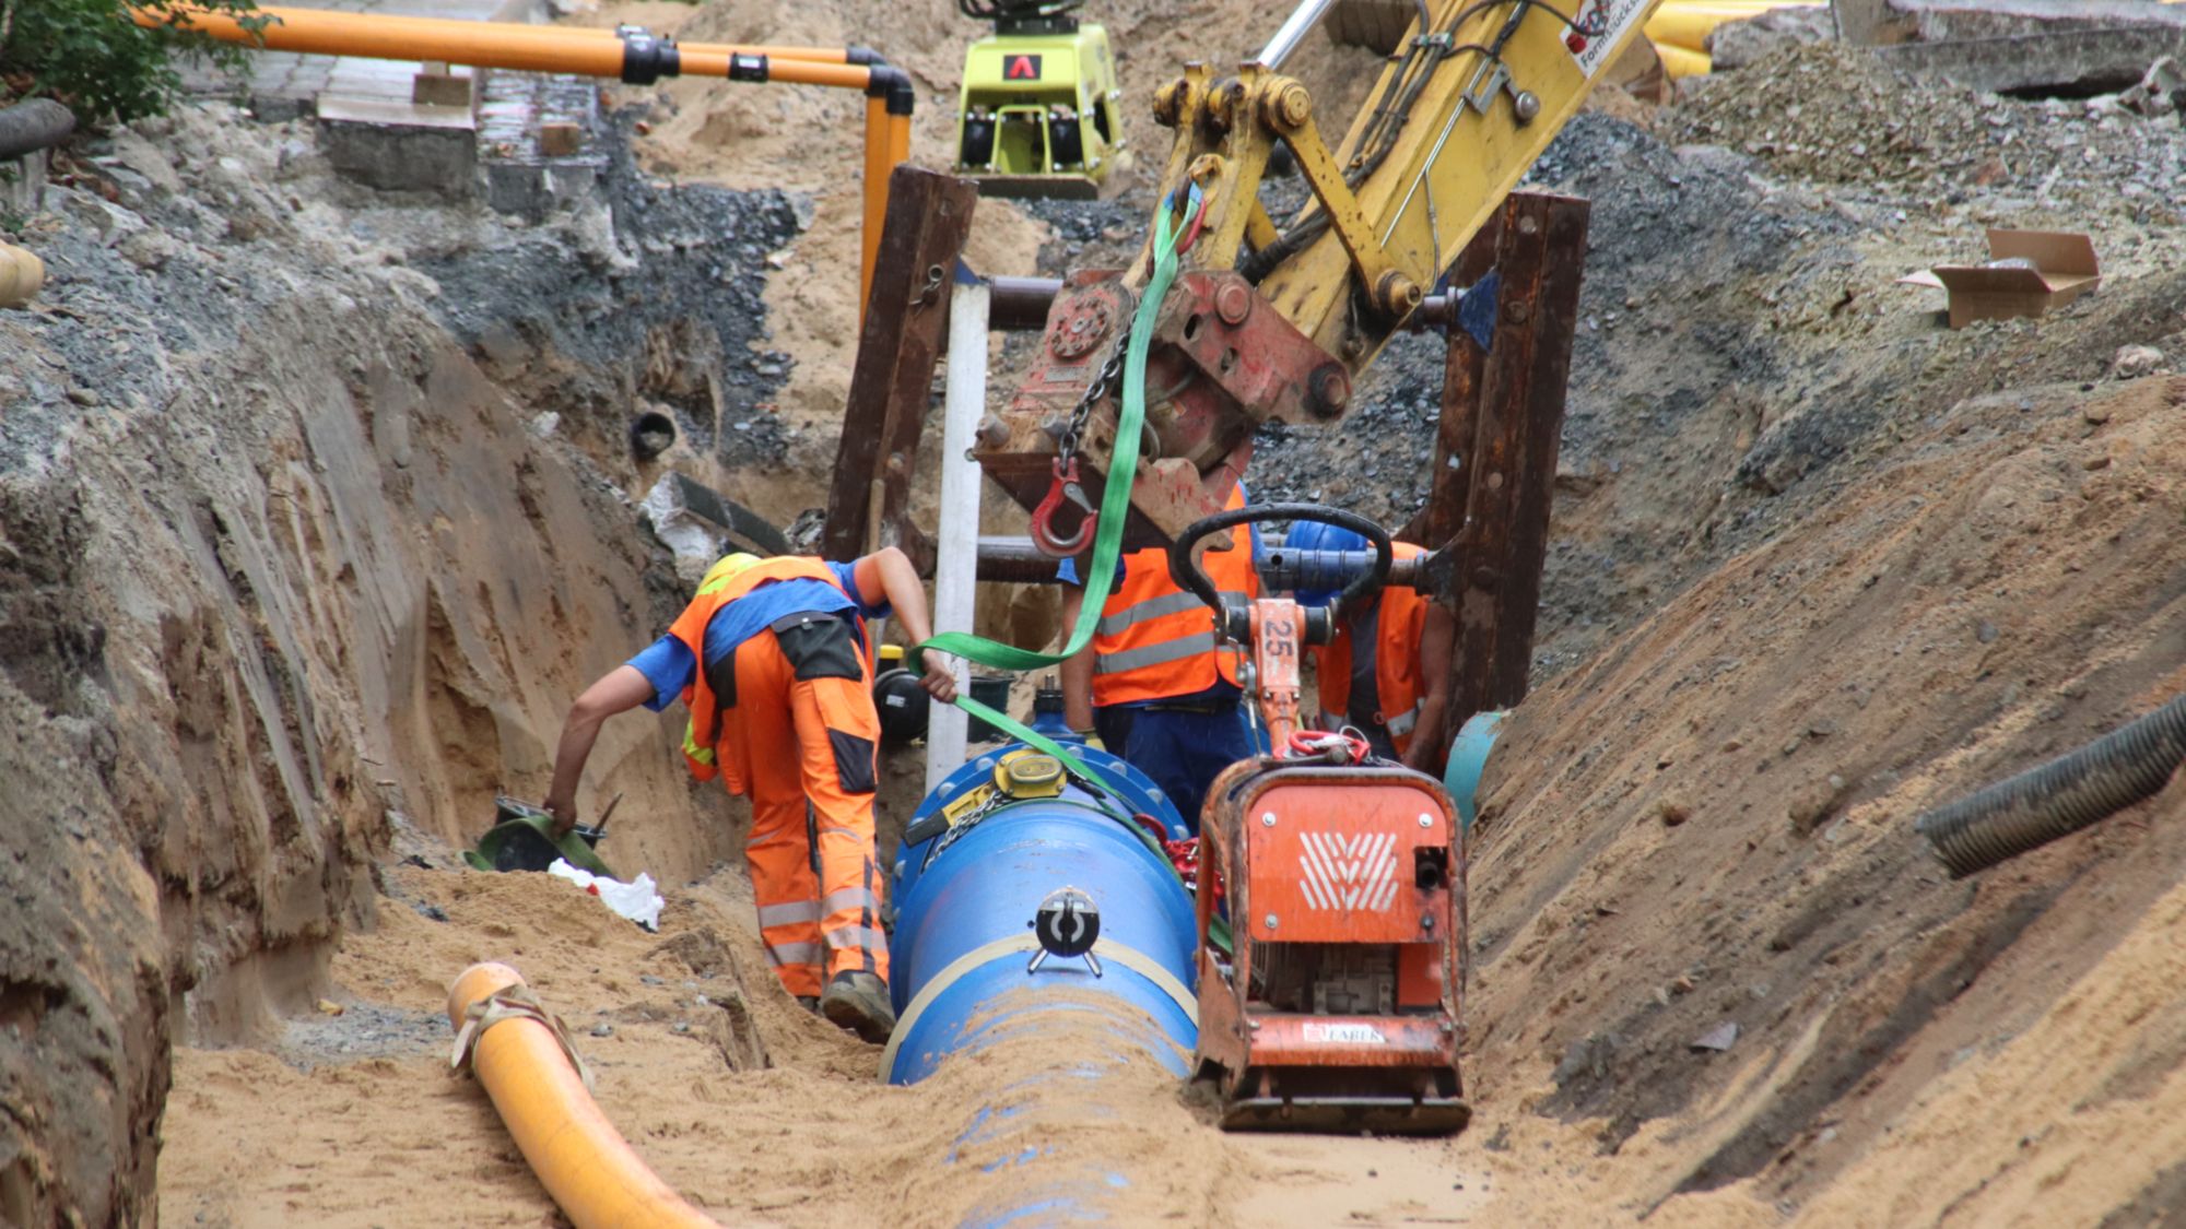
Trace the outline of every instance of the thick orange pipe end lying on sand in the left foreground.
[[[448, 1019], [461, 1028], [470, 1004], [525, 978], [507, 964], [472, 964], [448, 986]], [[577, 1229], [682, 1225], [719, 1229], [684, 1203], [599, 1113], [553, 1032], [536, 1019], [503, 1019], [479, 1034], [470, 1069], [494, 1098], [501, 1122], [540, 1185]]]

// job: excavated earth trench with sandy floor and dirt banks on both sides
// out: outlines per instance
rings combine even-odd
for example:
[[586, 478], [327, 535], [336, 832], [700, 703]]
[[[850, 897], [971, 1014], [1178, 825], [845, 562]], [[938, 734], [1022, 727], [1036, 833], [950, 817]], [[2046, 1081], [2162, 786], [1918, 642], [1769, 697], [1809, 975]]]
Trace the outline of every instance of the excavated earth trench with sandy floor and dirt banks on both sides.
[[[1897, 824], [2175, 682], [2186, 400], [2085, 396], [2120, 343], [2177, 352], [2175, 262], [2105, 238], [2116, 284], [2072, 313], [1943, 332], [1884, 302], [1941, 247], [1882, 221], [1904, 201], [1574, 125], [1541, 171], [1598, 201], [1563, 536], [1471, 862], [1482, 1117], [1454, 1144], [1233, 1142], [1143, 1065], [1027, 1109], [1100, 1052], [1062, 1028], [874, 1087], [767, 980], [741, 807], [682, 783], [675, 717], [610, 728], [588, 787], [623, 794], [610, 853], [667, 886], [667, 936], [453, 873], [496, 794], [542, 792], [568, 698], [680, 608], [691, 577], [634, 501], [673, 470], [809, 512], [833, 435], [769, 407], [846, 348], [767, 339], [759, 286], [853, 278], [787, 254], [811, 201], [665, 188], [621, 144], [597, 208], [509, 225], [341, 190], [227, 122], [90, 144], [122, 212], [70, 190], [39, 236], [55, 311], [0, 313], [0, 1218], [55, 1192], [94, 1225], [551, 1216], [439, 1056], [439, 982], [503, 953], [584, 1026], [671, 1181], [783, 1222], [962, 1220], [1049, 1166], [1139, 1220], [1462, 1218], [1491, 1174], [1526, 1222], [1648, 1192], [1733, 1222], [1941, 1218], [1928, 1192], [2009, 1218], [2059, 1163], [2026, 1102], [2072, 1104], [2099, 1146], [2175, 1144], [2131, 1120], [2177, 1104], [2175, 1039], [2138, 1023], [2166, 1013], [2079, 1008], [2125, 1021], [2127, 1056], [2081, 1069], [2072, 995], [2175, 984], [2127, 940], [2177, 827], [2090, 833], [1967, 903]], [[1043, 258], [1128, 258], [1148, 208], [1036, 210]], [[1270, 433], [1255, 492], [1406, 512], [1441, 361], [1408, 343], [1386, 370], [1358, 431]], [[1978, 396], [2007, 376], [2029, 391]], [[1027, 606], [1012, 639], [1047, 621]], [[1834, 772], [1838, 809], [1788, 827], [1784, 794]], [[1725, 1019], [1738, 1047], [1701, 1054]], [[2026, 1041], [2037, 1093], [1965, 1091]], [[2125, 1220], [2177, 1203], [2169, 1157], [2112, 1152], [2066, 1185], [2109, 1183]], [[1845, 1212], [1884, 1196], [1900, 1216]]]

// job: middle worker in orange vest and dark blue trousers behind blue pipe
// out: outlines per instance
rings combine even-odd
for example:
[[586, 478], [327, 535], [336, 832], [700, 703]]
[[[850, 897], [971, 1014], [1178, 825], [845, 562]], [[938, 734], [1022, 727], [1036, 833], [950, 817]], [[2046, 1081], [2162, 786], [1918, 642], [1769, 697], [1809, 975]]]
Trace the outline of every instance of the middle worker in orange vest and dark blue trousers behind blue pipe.
[[[1215, 475], [1237, 468], [1242, 461]], [[1226, 507], [1244, 503], [1244, 483], [1231, 483]], [[1200, 553], [1207, 580], [1237, 599], [1259, 597], [1259, 531], [1248, 534], [1215, 534]], [[1222, 540], [1229, 551], [1213, 549]], [[1078, 560], [1062, 560], [1060, 575], [1062, 625], [1076, 628], [1084, 604]], [[1117, 560], [1093, 643], [1062, 663], [1062, 719], [1152, 776], [1198, 831], [1215, 774], [1259, 750], [1239, 704], [1237, 660], [1239, 649], [1215, 639], [1213, 610], [1170, 577], [1167, 549], [1130, 551]]]

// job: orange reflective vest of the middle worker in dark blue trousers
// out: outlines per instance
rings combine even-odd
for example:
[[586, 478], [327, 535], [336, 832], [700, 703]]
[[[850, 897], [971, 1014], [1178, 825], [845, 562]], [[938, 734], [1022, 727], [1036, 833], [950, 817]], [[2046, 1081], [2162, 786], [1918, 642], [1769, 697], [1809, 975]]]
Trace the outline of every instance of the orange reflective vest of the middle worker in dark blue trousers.
[[[1231, 488], [1226, 507], [1244, 507]], [[1259, 597], [1250, 529], [1229, 529], [1231, 549], [1207, 549], [1200, 566], [1226, 597]], [[1124, 555], [1124, 580], [1108, 593], [1093, 632], [1093, 704], [1139, 704], [1237, 684], [1237, 649], [1215, 641], [1215, 612], [1170, 580], [1170, 551]]]

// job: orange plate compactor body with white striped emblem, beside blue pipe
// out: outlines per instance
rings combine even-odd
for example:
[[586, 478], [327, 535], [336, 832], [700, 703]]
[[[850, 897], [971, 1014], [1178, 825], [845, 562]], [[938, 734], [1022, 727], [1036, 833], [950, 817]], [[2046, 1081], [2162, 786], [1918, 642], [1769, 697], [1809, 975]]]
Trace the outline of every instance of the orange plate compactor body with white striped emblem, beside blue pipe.
[[[1449, 1135], [1465, 853], [1456, 807], [1406, 768], [1233, 765], [1202, 829], [1231, 951], [1200, 949], [1198, 1072], [1231, 1131]], [[1218, 875], [1200, 877], [1200, 925]], [[1207, 929], [1202, 929], [1207, 934]]]

